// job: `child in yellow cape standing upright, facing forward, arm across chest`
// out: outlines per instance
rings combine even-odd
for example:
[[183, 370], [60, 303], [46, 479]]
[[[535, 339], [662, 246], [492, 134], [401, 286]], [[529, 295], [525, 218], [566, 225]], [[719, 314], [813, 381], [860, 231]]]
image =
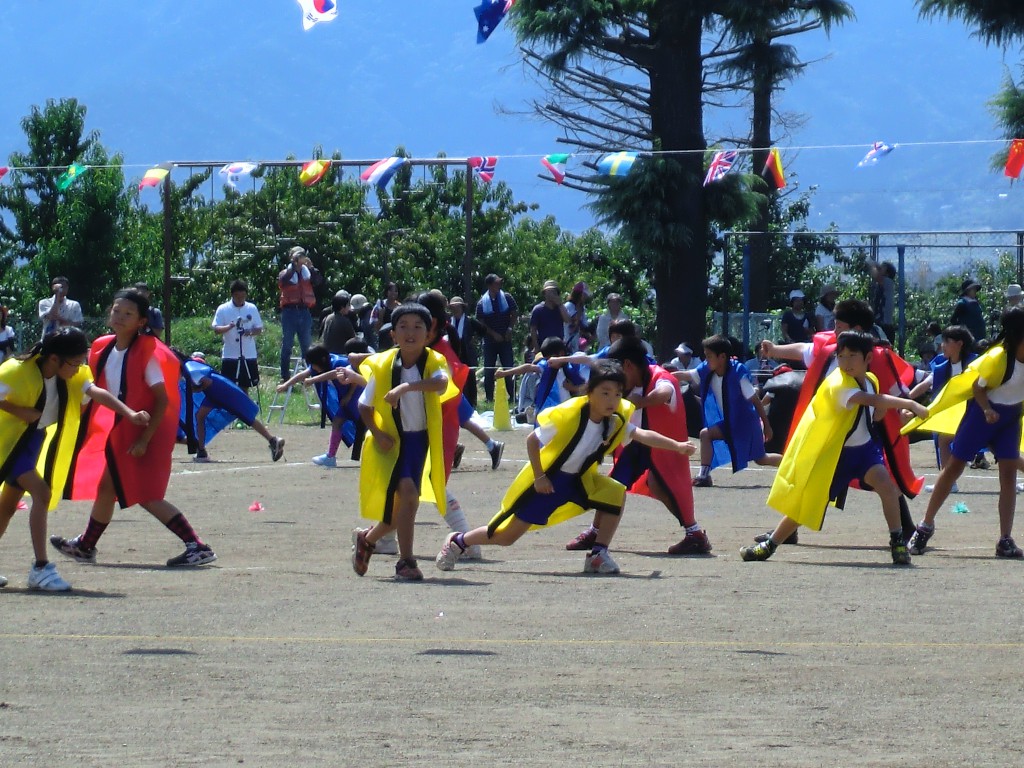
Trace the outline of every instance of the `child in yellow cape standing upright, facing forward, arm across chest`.
[[430, 484], [437, 511], [445, 512], [441, 402], [459, 394], [444, 355], [427, 347], [431, 326], [422, 304], [391, 312], [395, 346], [371, 355], [359, 367], [366, 388], [359, 416], [367, 438], [359, 467], [359, 514], [377, 524], [354, 531], [352, 568], [367, 572], [376, 543], [398, 531], [395, 579], [423, 580], [413, 555], [413, 531], [420, 488]]

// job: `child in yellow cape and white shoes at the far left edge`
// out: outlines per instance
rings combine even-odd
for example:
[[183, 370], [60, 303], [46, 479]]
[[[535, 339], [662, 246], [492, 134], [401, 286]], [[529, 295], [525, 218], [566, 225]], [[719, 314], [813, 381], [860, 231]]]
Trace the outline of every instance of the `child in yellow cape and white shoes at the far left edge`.
[[[46, 514], [57, 506], [68, 481], [86, 398], [136, 424], [150, 415], [132, 411], [92, 383], [85, 364], [89, 342], [77, 328], [47, 334], [20, 357], [0, 366], [0, 537], [26, 492], [32, 497], [29, 530], [36, 559], [29, 588], [71, 589], [46, 557]], [[0, 587], [7, 580], [0, 577]]]

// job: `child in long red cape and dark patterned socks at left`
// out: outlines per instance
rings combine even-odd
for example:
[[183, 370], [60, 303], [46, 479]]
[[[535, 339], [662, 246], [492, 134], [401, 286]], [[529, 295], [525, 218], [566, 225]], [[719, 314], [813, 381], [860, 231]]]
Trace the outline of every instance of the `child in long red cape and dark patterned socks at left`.
[[80, 562], [95, 562], [96, 543], [114, 518], [114, 504], [135, 504], [156, 517], [184, 542], [185, 550], [168, 566], [204, 565], [217, 559], [184, 514], [164, 496], [171, 477], [171, 453], [178, 431], [177, 356], [155, 336], [142, 333], [150, 302], [137, 291], [114, 297], [108, 325], [114, 334], [96, 339], [89, 350], [89, 367], [100, 385], [133, 411], [145, 411], [143, 428], [127, 419], [115, 419], [90, 406], [88, 431], [75, 458], [72, 499], [93, 501], [85, 531], [75, 539], [50, 537], [58, 551]]

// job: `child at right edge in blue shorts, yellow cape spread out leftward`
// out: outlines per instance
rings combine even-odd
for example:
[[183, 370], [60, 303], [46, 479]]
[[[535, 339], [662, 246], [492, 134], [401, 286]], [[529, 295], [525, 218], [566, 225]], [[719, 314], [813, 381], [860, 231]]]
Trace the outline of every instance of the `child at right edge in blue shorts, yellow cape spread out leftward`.
[[[967, 409], [957, 408], [967, 401]], [[999, 541], [996, 557], [1021, 558], [1013, 540], [1017, 508], [1017, 469], [1021, 456], [1021, 415], [1024, 410], [1024, 307], [1002, 314], [996, 343], [954, 376], [928, 408], [927, 418], [909, 422], [903, 432], [928, 429], [952, 434], [949, 459], [942, 466], [928, 500], [925, 519], [910, 537], [910, 553], [925, 554], [935, 534], [935, 516], [975, 455], [988, 447], [999, 467]], [[963, 416], [961, 416], [963, 415]], [[957, 418], [959, 417], [959, 418]]]

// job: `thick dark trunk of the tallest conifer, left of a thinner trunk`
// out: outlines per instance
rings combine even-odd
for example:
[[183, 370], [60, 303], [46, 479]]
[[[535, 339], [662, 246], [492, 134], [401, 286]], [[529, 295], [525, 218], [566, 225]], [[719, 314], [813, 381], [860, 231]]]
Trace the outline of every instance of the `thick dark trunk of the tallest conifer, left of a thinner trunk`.
[[[697, 150], [675, 157], [679, 178], [668, 195], [671, 232], [654, 258], [657, 345], [662, 359], [681, 341], [699, 343], [707, 331], [708, 215], [705, 209], [703, 70], [700, 13], [662, 2], [651, 17], [656, 30], [650, 80], [651, 128], [656, 150]], [[672, 7], [670, 7], [672, 6]], [[658, 73], [663, 73], [658, 77]]]

